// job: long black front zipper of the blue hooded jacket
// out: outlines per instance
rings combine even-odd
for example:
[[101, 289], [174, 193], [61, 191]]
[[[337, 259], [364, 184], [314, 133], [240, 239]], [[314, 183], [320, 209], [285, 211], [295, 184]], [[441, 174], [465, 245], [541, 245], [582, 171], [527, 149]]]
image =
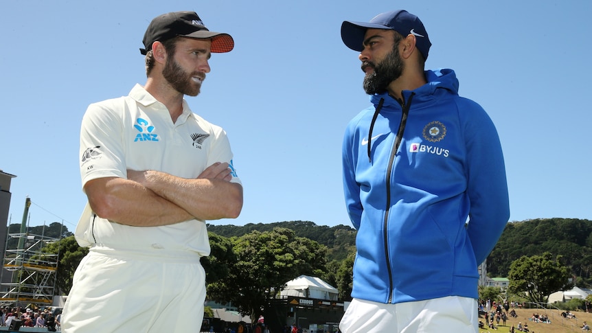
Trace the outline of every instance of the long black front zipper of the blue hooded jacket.
[[405, 126], [407, 125], [407, 116], [409, 115], [409, 108], [411, 108], [411, 100], [413, 100], [413, 95], [415, 93], [411, 93], [409, 95], [409, 101], [405, 103], [405, 95], [401, 92], [402, 100], [399, 101], [402, 108], [402, 115], [401, 115], [401, 123], [399, 125], [399, 129], [397, 130], [397, 137], [395, 138], [395, 142], [393, 143], [393, 149], [391, 150], [391, 157], [389, 159], [389, 165], [387, 168], [387, 207], [385, 209], [385, 220], [383, 222], [384, 227], [384, 241], [385, 241], [385, 260], [387, 262], [387, 271], [389, 272], [389, 301], [388, 303], [392, 303], [393, 301], [393, 271], [391, 269], [391, 259], [389, 254], [389, 235], [388, 235], [388, 225], [389, 225], [389, 211], [391, 207], [391, 176], [393, 172], [393, 165], [395, 162], [397, 151], [399, 150], [399, 146], [403, 139], [403, 133], [405, 133]]

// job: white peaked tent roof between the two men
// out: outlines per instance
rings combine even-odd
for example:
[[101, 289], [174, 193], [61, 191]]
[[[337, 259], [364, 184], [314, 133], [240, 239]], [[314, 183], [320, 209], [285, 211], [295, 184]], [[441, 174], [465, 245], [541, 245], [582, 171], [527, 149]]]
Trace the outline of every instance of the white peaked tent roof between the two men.
[[281, 296], [306, 297], [337, 301], [339, 291], [318, 277], [300, 275], [286, 282], [286, 288], [280, 292]]

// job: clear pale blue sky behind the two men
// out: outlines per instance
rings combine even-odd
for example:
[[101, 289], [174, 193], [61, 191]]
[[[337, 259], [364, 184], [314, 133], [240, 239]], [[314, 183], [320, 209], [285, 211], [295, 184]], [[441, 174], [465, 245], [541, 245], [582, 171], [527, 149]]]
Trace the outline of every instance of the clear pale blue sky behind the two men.
[[9, 222], [76, 227], [86, 198], [78, 169], [88, 104], [144, 84], [139, 54], [159, 14], [196, 11], [235, 39], [214, 54], [192, 110], [223, 126], [244, 185], [244, 225], [310, 220], [349, 225], [341, 139], [369, 105], [344, 20], [407, 9], [451, 68], [459, 94], [497, 126], [510, 220], [592, 220], [589, 65], [592, 1], [0, 1], [0, 170], [15, 174]]

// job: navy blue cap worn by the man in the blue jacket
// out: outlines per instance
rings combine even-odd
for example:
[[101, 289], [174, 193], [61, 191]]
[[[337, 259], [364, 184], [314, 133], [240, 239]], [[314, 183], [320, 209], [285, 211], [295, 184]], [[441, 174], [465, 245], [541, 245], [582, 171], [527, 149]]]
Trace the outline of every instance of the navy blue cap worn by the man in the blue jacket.
[[418, 48], [424, 59], [428, 58], [432, 45], [428, 32], [426, 32], [426, 28], [418, 16], [410, 14], [407, 10], [394, 10], [378, 14], [369, 23], [343, 21], [341, 24], [341, 39], [345, 46], [350, 49], [362, 51], [364, 49], [364, 35], [367, 29], [395, 30], [403, 37], [413, 34], [415, 36], [415, 47]]

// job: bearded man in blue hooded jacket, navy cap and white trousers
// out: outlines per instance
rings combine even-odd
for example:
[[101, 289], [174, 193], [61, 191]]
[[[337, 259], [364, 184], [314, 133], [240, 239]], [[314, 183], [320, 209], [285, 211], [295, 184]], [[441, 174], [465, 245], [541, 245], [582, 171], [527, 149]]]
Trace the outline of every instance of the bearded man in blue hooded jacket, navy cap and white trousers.
[[424, 71], [431, 43], [405, 10], [345, 21], [372, 106], [348, 125], [343, 184], [358, 234], [340, 329], [477, 332], [477, 266], [510, 216], [497, 131], [458, 95], [451, 69]]

